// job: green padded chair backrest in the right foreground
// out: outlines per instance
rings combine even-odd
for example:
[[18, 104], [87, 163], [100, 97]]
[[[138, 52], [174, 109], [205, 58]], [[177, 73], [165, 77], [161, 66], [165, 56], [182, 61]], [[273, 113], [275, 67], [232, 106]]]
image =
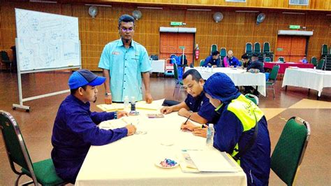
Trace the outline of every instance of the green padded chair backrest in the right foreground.
[[309, 123], [291, 117], [285, 124], [271, 156], [271, 169], [287, 185], [293, 185], [310, 136]]

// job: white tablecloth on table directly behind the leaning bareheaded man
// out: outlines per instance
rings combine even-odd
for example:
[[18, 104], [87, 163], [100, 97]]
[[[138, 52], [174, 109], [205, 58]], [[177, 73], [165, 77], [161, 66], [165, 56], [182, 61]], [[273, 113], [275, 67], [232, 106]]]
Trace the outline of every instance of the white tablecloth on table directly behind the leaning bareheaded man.
[[[185, 68], [185, 71], [189, 70], [190, 68]], [[205, 80], [207, 80], [210, 76], [212, 76], [216, 72], [225, 73], [227, 76], [233, 80], [236, 86], [258, 86], [258, 92], [263, 96], [266, 95], [265, 92], [265, 74], [264, 73], [249, 73], [246, 72], [244, 69], [234, 69], [234, 68], [202, 68], [196, 67], [194, 68], [199, 71], [201, 76]]]

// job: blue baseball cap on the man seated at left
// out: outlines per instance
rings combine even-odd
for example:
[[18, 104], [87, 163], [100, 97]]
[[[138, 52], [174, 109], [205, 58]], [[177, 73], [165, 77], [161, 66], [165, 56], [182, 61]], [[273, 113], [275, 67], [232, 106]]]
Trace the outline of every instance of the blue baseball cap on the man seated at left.
[[80, 69], [71, 74], [68, 85], [71, 90], [78, 89], [85, 85], [90, 85], [92, 87], [102, 85], [105, 82], [105, 77], [96, 76], [94, 73], [87, 69]]

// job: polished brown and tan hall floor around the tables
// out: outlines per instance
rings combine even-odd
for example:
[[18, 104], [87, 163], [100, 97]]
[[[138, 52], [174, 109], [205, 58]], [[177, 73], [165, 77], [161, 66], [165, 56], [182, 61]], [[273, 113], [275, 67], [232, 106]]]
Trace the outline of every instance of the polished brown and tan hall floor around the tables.
[[[24, 98], [67, 89], [69, 71], [31, 73], [22, 76]], [[172, 99], [174, 81], [172, 78], [152, 78], [151, 89], [154, 99]], [[103, 86], [98, 87], [98, 103], [103, 103]], [[302, 117], [311, 124], [311, 138], [306, 154], [297, 175], [297, 185], [331, 185], [330, 139], [331, 139], [331, 89], [322, 92], [321, 101], [316, 101], [316, 91], [300, 87], [290, 87], [285, 92], [281, 80], [276, 85], [276, 99], [260, 96], [260, 108], [268, 120], [272, 150], [277, 143], [286, 120], [292, 116]], [[157, 91], [156, 91], [157, 90]], [[0, 110], [6, 110], [15, 117], [27, 143], [33, 162], [50, 157], [52, 145], [52, 124], [57, 108], [66, 94], [24, 102], [31, 106], [29, 113], [24, 110], [12, 110], [12, 104], [18, 103], [17, 74], [0, 73]], [[185, 98], [181, 92], [179, 100]], [[99, 110], [91, 104], [91, 110]], [[0, 135], [1, 136], [1, 135]], [[13, 185], [16, 176], [10, 170], [3, 141], [0, 140], [0, 185]], [[21, 178], [20, 183], [29, 180]], [[207, 183], [206, 183], [207, 185]], [[272, 172], [270, 185], [284, 185]]]

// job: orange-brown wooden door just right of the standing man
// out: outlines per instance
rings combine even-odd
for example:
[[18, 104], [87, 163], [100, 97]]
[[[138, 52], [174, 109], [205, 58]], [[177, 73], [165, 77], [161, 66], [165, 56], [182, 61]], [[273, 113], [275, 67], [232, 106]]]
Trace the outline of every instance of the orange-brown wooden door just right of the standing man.
[[179, 46], [184, 46], [187, 64], [193, 62], [194, 34], [192, 33], [160, 33], [160, 59], [168, 59], [170, 55], [182, 55], [183, 50]]

